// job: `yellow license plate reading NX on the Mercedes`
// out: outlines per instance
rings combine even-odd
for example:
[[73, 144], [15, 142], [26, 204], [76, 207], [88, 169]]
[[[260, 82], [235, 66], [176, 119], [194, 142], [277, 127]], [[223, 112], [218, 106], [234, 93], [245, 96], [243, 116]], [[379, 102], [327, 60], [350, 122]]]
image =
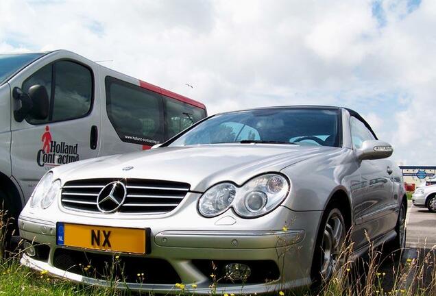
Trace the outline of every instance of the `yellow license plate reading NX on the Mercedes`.
[[58, 223], [56, 243], [66, 247], [148, 254], [149, 229]]

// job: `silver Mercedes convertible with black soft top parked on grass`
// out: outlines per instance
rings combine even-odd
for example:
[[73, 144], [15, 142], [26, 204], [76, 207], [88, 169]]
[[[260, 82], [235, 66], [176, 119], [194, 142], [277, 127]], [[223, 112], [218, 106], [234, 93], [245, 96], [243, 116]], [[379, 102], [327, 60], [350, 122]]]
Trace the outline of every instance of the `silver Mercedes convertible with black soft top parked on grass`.
[[404, 247], [393, 149], [352, 110], [216, 114], [154, 148], [45, 174], [21, 262], [136, 291], [265, 293], [328, 279], [348, 231], [355, 256], [367, 236]]

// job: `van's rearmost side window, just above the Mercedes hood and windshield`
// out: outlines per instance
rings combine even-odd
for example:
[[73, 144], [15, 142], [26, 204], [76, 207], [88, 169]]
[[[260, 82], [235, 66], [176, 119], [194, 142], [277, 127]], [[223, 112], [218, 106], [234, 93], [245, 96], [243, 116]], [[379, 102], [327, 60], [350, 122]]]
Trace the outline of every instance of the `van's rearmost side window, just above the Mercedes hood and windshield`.
[[176, 99], [163, 96], [165, 103], [165, 123], [167, 138], [171, 138], [190, 127], [206, 115], [202, 108], [183, 103]]

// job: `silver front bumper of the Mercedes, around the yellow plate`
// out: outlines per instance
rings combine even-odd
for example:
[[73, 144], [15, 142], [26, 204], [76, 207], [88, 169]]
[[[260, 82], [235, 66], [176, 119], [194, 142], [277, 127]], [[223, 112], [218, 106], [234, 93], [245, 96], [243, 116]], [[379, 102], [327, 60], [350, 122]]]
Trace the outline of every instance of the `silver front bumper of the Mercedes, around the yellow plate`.
[[[165, 219], [90, 219], [85, 215], [62, 213], [58, 219], [47, 221], [40, 215], [23, 211], [19, 218], [21, 237], [34, 243], [49, 246], [47, 258], [31, 258], [23, 255], [22, 264], [32, 269], [47, 270], [52, 275], [64, 277], [74, 282], [97, 286], [117, 286], [132, 291], [154, 291], [156, 293], [180, 293], [176, 282], [159, 284], [155, 282], [111, 282], [73, 269], [59, 268], [56, 262], [63, 251], [85, 252], [100, 256], [115, 254], [107, 251], [94, 251], [61, 247], [56, 245], [56, 222], [79, 223], [84, 225], [106, 225], [116, 227], [150, 227], [151, 253], [143, 256], [121, 254], [141, 260], [165, 260], [177, 273], [185, 286], [185, 291], [210, 294], [214, 284], [210, 271], [205, 271], [197, 262], [210, 260], [217, 262], [274, 262], [278, 276], [268, 282], [232, 283], [218, 281], [213, 289], [217, 293], [267, 293], [282, 289], [297, 288], [311, 284], [311, 261], [317, 226], [322, 212], [293, 212], [280, 206], [274, 212], [258, 219], [241, 219], [232, 212], [225, 217], [206, 219], [195, 213], [175, 213]], [[224, 219], [225, 218], [225, 219]], [[187, 219], [187, 220], [185, 220]], [[224, 220], [223, 220], [224, 219]], [[180, 221], [189, 221], [191, 226], [182, 227]], [[231, 222], [231, 223], [230, 223]], [[197, 225], [193, 228], [193, 225]], [[286, 226], [289, 228], [283, 229]], [[185, 229], [185, 230], [181, 230]], [[146, 261], [144, 261], [146, 262]], [[78, 262], [75, 262], [78, 264]], [[251, 263], [250, 263], [251, 264]], [[249, 266], [250, 266], [249, 264]], [[153, 273], [153, 268], [143, 264], [145, 277]], [[254, 272], [257, 272], [254, 269]], [[219, 273], [217, 271], [216, 273]], [[193, 288], [192, 285], [195, 285]]]

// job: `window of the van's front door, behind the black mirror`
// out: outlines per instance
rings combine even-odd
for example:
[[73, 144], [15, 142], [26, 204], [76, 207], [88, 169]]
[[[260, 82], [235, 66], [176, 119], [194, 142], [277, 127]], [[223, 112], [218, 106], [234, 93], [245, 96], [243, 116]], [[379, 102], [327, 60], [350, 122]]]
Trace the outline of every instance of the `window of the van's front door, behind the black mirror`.
[[31, 124], [78, 119], [91, 110], [93, 74], [81, 64], [71, 61], [48, 64], [27, 78], [22, 88], [27, 93], [35, 84], [43, 85], [47, 89], [50, 110], [49, 117], [44, 120], [36, 120], [28, 115], [26, 120]]

